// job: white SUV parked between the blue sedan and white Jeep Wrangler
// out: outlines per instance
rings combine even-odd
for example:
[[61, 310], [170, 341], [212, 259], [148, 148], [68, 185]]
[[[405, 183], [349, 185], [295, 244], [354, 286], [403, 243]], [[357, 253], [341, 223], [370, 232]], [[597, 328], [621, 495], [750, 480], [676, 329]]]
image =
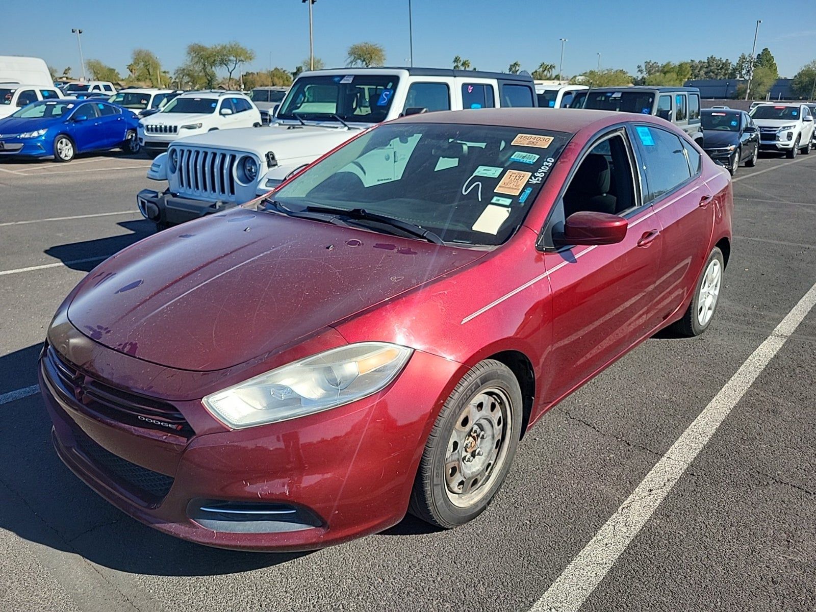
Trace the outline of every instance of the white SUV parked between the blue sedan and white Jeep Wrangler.
[[159, 151], [183, 136], [260, 125], [260, 111], [238, 91], [188, 91], [140, 120], [139, 143]]

